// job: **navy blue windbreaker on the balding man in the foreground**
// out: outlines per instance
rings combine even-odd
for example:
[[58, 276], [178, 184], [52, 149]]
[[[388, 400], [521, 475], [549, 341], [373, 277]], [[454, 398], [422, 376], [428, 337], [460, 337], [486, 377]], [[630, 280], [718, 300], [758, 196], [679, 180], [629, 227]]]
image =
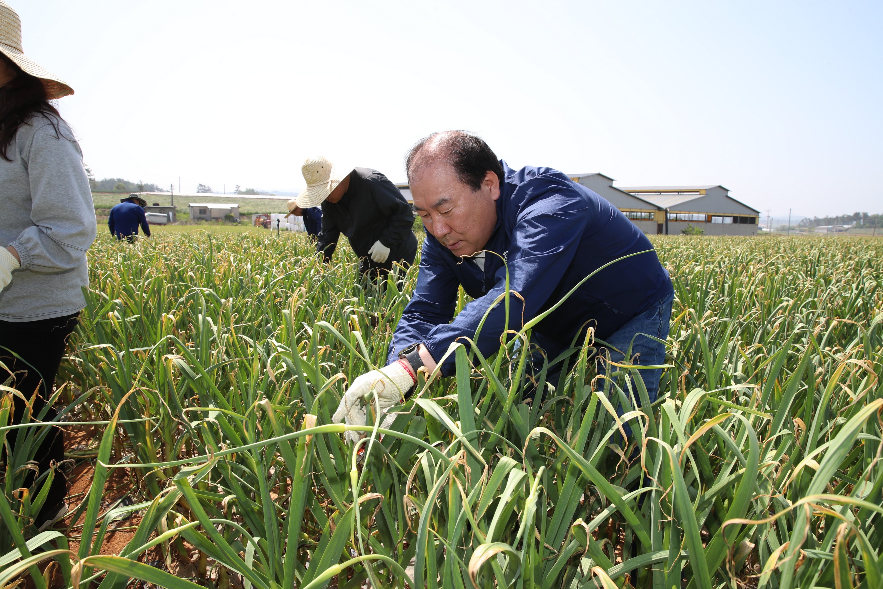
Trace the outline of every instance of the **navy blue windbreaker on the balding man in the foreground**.
[[[417, 343], [426, 344], [438, 361], [458, 337], [474, 338], [487, 307], [505, 291], [506, 268], [500, 256], [509, 266], [510, 290], [525, 299], [523, 305], [510, 296], [509, 329], [517, 330], [524, 324], [522, 313], [524, 321], [531, 320], [608, 261], [653, 249], [619, 209], [562, 172], [532, 166], [512, 170], [506, 162], [502, 166], [505, 177], [496, 201], [494, 233], [485, 246], [489, 252], [484, 271], [472, 259], [457, 258], [427, 231], [417, 287], [396, 327], [389, 362]], [[451, 321], [460, 284], [475, 300]], [[591, 321], [588, 324], [603, 340], [672, 291], [656, 253], [642, 253], [592, 276], [533, 330], [566, 347]], [[476, 344], [482, 354], [499, 348], [504, 322], [501, 302], [481, 328]], [[452, 354], [442, 374], [454, 373]]]

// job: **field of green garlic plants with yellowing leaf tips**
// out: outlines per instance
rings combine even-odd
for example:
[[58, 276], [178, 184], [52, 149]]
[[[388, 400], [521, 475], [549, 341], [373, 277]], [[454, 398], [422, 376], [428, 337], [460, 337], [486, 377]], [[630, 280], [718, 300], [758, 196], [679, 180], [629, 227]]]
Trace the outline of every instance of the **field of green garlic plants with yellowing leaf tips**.
[[57, 380], [89, 436], [62, 468], [91, 485], [38, 533], [25, 428], [0, 586], [883, 587], [883, 241], [653, 243], [675, 284], [654, 404], [591, 337], [532, 370], [523, 331], [451, 350], [456, 377], [353, 446], [330, 416], [417, 268], [378, 288], [298, 234], [100, 239]]

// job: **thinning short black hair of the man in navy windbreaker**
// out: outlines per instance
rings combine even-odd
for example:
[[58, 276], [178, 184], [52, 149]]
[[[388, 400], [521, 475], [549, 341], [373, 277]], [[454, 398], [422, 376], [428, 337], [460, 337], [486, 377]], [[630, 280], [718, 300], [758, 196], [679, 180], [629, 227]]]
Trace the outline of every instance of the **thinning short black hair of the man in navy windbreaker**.
[[494, 150], [478, 135], [467, 131], [436, 132], [419, 140], [405, 158], [408, 182], [419, 170], [442, 161], [449, 163], [457, 179], [472, 188], [472, 192], [481, 188], [488, 171], [494, 172], [502, 185], [502, 164]]

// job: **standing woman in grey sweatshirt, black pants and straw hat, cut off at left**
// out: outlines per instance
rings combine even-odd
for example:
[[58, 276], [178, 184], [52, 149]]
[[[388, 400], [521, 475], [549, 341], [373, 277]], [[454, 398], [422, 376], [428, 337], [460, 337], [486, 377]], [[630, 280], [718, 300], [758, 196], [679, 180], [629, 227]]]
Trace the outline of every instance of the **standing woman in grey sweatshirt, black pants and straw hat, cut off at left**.
[[[18, 24], [2, 1], [0, 22]], [[0, 26], [0, 382], [14, 377], [12, 386], [31, 402], [30, 421], [51, 421], [57, 412], [47, 401], [86, 306], [81, 289], [89, 282], [95, 213], [79, 145], [49, 103], [73, 90], [24, 57], [20, 25], [16, 32]], [[13, 424], [21, 423], [26, 404], [15, 396], [14, 405]], [[39, 472], [24, 480], [30, 497], [51, 480], [42, 509], [32, 514], [37, 529], [67, 510], [67, 481], [54, 470], [64, 460], [63, 433], [58, 427], [43, 433], [41, 442], [36, 428], [10, 430], [11, 449], [26, 438], [32, 448], [29, 456], [4, 457], [23, 463], [13, 471], [27, 460], [38, 463]]]

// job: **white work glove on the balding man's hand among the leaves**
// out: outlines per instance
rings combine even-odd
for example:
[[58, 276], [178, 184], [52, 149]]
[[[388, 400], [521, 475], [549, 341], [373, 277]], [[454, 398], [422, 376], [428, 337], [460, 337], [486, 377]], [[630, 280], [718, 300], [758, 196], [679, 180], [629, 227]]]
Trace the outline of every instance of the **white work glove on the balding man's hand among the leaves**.
[[[371, 393], [372, 390], [377, 391], [381, 412], [386, 412], [390, 407], [402, 401], [404, 394], [416, 383], [417, 380], [404, 367], [402, 360], [396, 360], [389, 366], [362, 374], [352, 381], [349, 389], [346, 389], [346, 393], [343, 394], [343, 399], [341, 399], [331, 420], [340, 423], [345, 418], [346, 424], [349, 426], [364, 426], [367, 414], [366, 404], [370, 403], [374, 409], [377, 408], [374, 393]], [[343, 434], [347, 442], [358, 442], [358, 438], [361, 436], [362, 434], [359, 432], [344, 432]]]

